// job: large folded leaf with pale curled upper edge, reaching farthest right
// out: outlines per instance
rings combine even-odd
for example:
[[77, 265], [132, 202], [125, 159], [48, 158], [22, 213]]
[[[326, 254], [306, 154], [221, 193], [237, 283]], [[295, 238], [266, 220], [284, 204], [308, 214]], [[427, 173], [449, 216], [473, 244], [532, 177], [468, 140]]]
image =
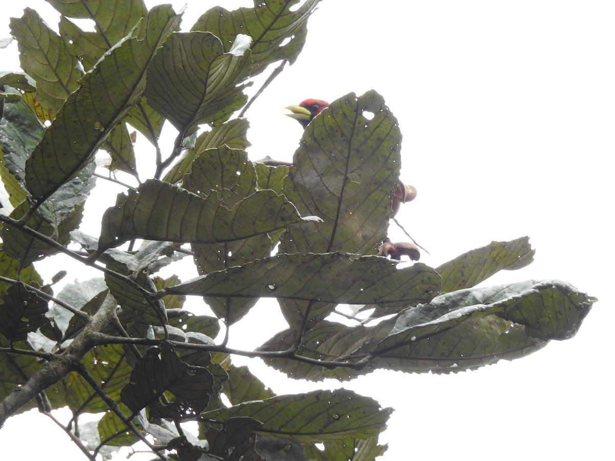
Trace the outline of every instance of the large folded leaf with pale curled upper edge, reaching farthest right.
[[[523, 282], [460, 290], [419, 304], [376, 326], [321, 321], [303, 334], [298, 354], [360, 368], [325, 368], [290, 358], [266, 362], [295, 379], [352, 379], [373, 369], [456, 372], [541, 349], [550, 339], [576, 333], [594, 298], [559, 281]], [[290, 329], [261, 350], [288, 350]]]

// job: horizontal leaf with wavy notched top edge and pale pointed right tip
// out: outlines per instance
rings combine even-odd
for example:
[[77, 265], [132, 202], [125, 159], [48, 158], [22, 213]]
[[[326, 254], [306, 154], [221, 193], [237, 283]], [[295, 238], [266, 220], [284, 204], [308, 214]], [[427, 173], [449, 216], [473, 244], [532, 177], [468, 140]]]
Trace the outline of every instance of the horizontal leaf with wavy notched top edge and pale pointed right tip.
[[119, 195], [103, 215], [99, 251], [132, 238], [172, 242], [231, 242], [303, 221], [285, 197], [258, 191], [229, 210], [169, 183], [148, 179], [137, 191]]

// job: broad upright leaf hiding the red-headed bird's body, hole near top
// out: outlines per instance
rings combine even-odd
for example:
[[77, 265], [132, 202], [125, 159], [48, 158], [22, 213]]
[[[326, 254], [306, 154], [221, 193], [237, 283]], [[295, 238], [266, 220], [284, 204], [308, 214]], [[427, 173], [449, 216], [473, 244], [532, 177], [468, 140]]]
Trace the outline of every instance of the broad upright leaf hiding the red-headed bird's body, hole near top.
[[[397, 120], [374, 91], [346, 95], [315, 117], [295, 152], [284, 194], [301, 213], [324, 222], [288, 229], [280, 252], [375, 254], [399, 183], [401, 138]], [[335, 309], [314, 301], [280, 305], [296, 333], [304, 317], [309, 329]]]

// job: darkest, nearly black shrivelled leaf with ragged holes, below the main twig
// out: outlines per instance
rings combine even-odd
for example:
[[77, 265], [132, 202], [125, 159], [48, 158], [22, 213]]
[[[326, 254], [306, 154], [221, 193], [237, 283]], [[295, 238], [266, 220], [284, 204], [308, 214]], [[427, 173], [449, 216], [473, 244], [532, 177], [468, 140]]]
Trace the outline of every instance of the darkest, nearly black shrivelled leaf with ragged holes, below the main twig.
[[[180, 360], [173, 347], [149, 349], [135, 364], [130, 383], [122, 389], [122, 402], [133, 413], [149, 406], [151, 414], [171, 419], [192, 418], [207, 406], [213, 377], [207, 368], [189, 366]], [[169, 390], [175, 401], [160, 401]]]

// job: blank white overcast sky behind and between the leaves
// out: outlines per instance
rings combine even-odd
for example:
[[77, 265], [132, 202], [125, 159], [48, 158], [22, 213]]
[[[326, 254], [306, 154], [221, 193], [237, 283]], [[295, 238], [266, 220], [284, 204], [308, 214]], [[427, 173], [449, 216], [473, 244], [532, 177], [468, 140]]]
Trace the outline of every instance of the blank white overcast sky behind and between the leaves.
[[[183, 28], [214, 4], [251, 2], [188, 1]], [[42, 1], [5, 2], [0, 37], [25, 6], [56, 27]], [[483, 285], [561, 278], [600, 300], [573, 339], [522, 360], [450, 376], [375, 372], [344, 384], [396, 409], [381, 437], [384, 459], [612, 456], [614, 14], [610, 1], [323, 0], [298, 61], [248, 110], [250, 158], [290, 160], [301, 127], [284, 106], [375, 89], [403, 133], [402, 180], [418, 197], [397, 217], [431, 253], [422, 262], [435, 267], [491, 240], [529, 235], [533, 264]], [[0, 62], [17, 69], [15, 44], [0, 50]], [[151, 162], [146, 141], [138, 143], [149, 159], [141, 165]], [[113, 194], [90, 198], [85, 232], [98, 234]], [[391, 235], [403, 240], [394, 225]], [[58, 261], [41, 272], [54, 274]], [[84, 274], [69, 267], [66, 280], [100, 275]], [[255, 347], [282, 328], [276, 304], [261, 301], [231, 341]], [[277, 393], [339, 387], [290, 381], [256, 360], [235, 363], [248, 363]], [[0, 430], [3, 457], [84, 459], [33, 414]]]

